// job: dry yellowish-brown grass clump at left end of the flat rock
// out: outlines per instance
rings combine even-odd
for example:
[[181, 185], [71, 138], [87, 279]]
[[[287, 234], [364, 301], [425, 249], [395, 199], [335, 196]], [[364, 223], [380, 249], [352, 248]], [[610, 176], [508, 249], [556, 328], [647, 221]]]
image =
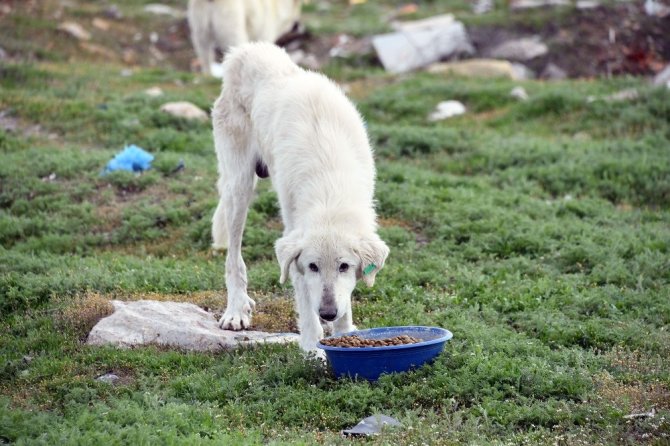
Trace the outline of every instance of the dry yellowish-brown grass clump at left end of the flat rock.
[[114, 306], [100, 293], [87, 293], [57, 312], [54, 322], [56, 327], [84, 339], [100, 319], [113, 312]]

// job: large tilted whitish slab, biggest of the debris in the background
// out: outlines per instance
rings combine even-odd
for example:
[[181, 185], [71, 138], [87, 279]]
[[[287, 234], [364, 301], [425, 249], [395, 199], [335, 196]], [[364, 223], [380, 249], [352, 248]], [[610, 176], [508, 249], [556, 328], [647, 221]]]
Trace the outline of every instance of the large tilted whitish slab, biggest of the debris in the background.
[[440, 59], [474, 49], [463, 23], [451, 14], [413, 22], [395, 22], [396, 32], [372, 38], [372, 45], [387, 71], [405, 73]]

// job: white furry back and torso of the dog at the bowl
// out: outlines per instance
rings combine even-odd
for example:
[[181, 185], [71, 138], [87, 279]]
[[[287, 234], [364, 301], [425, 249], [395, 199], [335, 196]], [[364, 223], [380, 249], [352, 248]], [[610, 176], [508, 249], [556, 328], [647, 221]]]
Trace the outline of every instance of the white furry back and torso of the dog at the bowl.
[[272, 44], [234, 48], [212, 117], [215, 135], [240, 135], [267, 164], [284, 210], [295, 200], [355, 205], [370, 210], [365, 220], [374, 222], [374, 161], [363, 120], [325, 76], [298, 67]]

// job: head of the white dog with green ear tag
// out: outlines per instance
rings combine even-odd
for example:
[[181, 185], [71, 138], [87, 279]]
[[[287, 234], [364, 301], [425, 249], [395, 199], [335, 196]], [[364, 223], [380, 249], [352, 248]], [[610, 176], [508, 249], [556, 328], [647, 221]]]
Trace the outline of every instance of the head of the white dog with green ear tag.
[[356, 281], [374, 285], [389, 254], [377, 234], [354, 237], [335, 231], [293, 231], [277, 240], [275, 251], [280, 283], [290, 271], [297, 294], [307, 296], [310, 307], [324, 321], [334, 321], [350, 310]]

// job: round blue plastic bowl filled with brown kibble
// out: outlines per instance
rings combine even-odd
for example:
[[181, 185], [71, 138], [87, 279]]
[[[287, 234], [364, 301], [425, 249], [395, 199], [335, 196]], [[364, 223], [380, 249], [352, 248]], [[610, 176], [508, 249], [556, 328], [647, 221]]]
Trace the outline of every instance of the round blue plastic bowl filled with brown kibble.
[[365, 339], [383, 339], [408, 335], [421, 342], [388, 347], [331, 347], [318, 342], [325, 350], [337, 378], [349, 376], [376, 381], [383, 373], [406, 372], [435, 359], [444, 344], [453, 337], [449, 330], [439, 327], [381, 327], [357, 330], [332, 337], [358, 335]]

